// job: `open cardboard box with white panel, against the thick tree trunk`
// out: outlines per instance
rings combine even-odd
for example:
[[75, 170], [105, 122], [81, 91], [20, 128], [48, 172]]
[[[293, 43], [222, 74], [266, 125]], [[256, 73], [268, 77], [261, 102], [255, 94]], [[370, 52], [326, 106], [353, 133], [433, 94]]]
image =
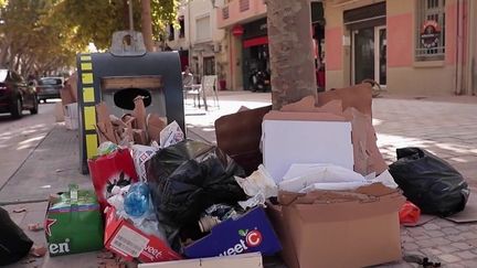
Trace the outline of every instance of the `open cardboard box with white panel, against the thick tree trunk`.
[[388, 169], [371, 117], [342, 107], [341, 100], [316, 107], [308, 96], [265, 115], [263, 162], [276, 182], [293, 163], [332, 163], [364, 176]]

